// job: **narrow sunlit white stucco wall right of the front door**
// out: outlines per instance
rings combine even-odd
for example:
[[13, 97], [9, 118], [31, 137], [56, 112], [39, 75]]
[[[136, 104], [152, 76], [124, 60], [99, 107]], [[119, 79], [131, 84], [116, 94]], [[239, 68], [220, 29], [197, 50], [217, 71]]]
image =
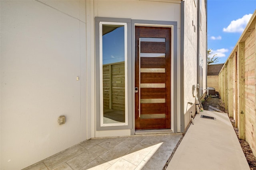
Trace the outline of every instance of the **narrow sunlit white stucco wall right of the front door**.
[[[197, 8], [194, 0], [185, 1], [184, 27], [184, 110], [182, 112], [186, 128], [191, 119], [189, 112], [195, 113], [195, 106], [191, 106], [188, 102], [195, 103], [192, 86], [197, 84]], [[196, 90], [194, 95], [196, 95]]]

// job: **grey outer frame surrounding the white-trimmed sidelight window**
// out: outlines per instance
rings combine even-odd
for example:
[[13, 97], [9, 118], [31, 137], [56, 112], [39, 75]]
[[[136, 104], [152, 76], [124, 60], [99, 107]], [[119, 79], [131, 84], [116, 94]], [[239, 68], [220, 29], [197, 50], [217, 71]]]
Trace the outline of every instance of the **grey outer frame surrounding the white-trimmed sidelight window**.
[[[123, 129], [132, 129], [132, 31], [131, 31], [131, 19], [128, 18], [105, 18], [105, 17], [95, 17], [94, 20], [94, 35], [95, 35], [95, 127], [96, 131], [109, 131], [109, 130], [123, 130]], [[126, 55], [127, 55], [127, 65], [126, 65], [126, 71], [127, 71], [127, 78], [126, 78], [126, 87], [127, 87], [127, 93], [126, 93], [126, 124], [123, 123], [116, 123], [118, 125], [108, 125], [108, 126], [102, 126], [101, 125], [101, 96], [100, 96], [100, 22], [104, 23], [126, 23], [127, 24], [127, 48], [125, 48]], [[103, 108], [103, 107], [102, 107]], [[103, 121], [102, 121], [103, 122]], [[109, 123], [108, 123], [109, 124]], [[106, 125], [106, 124], [105, 124]]]

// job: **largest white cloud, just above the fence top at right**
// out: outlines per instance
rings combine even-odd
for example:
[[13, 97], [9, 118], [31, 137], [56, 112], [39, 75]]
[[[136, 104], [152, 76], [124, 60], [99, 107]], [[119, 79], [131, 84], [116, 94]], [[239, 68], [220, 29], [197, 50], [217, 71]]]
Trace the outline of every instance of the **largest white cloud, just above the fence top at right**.
[[223, 31], [230, 32], [230, 33], [242, 33], [251, 17], [252, 17], [252, 14], [247, 14], [247, 15], [244, 15], [242, 18], [233, 20], [228, 25], [228, 27], [223, 28]]

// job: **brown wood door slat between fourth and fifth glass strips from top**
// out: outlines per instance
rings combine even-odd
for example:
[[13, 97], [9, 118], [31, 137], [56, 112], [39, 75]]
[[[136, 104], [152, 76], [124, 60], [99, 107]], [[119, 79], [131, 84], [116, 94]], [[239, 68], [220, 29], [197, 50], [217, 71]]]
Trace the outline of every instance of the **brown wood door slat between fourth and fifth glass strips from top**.
[[141, 99], [164, 99], [165, 88], [141, 88], [140, 89]]

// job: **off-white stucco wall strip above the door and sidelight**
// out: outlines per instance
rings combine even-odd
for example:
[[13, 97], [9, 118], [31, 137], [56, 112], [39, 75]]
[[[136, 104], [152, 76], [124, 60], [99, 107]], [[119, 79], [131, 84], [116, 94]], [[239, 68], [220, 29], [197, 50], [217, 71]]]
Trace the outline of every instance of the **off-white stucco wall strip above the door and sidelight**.
[[[170, 2], [96, 0], [94, 15], [133, 20], [180, 21], [180, 3]], [[180, 28], [180, 23], [178, 27]]]

